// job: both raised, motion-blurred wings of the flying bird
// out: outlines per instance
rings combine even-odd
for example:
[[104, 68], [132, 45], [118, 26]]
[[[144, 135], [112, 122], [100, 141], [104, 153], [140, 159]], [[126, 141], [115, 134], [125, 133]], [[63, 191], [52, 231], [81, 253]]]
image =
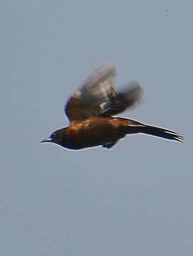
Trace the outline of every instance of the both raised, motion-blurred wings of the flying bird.
[[115, 91], [116, 70], [113, 65], [103, 65], [83, 82], [68, 100], [65, 107], [70, 121], [91, 116], [110, 116], [132, 107], [140, 100], [138, 83], [122, 92]]

